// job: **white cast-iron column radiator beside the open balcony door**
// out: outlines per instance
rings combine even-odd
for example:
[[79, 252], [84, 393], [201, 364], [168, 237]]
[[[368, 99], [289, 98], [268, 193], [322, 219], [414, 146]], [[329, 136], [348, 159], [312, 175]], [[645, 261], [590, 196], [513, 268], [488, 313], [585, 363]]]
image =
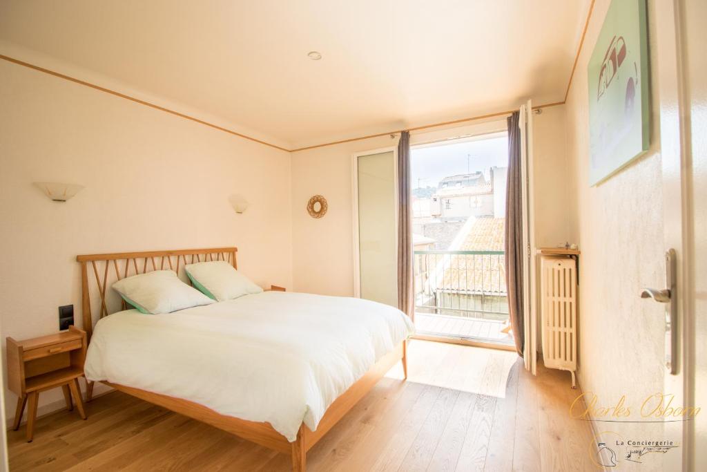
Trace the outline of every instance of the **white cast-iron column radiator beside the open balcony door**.
[[540, 261], [542, 355], [545, 367], [567, 370], [577, 388], [577, 264], [568, 257]]

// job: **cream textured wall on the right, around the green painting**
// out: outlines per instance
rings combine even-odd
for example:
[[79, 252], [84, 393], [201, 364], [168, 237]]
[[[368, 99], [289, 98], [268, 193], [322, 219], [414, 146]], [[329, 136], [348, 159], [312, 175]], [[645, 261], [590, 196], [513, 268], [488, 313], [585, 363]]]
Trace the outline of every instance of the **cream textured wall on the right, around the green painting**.
[[[571, 231], [582, 251], [578, 376], [583, 390], [596, 393], [607, 405], [625, 394], [627, 404], [640, 406], [646, 396], [663, 391], [665, 374], [663, 307], [638, 297], [641, 287], [662, 287], [665, 277], [653, 4], [648, 2], [653, 79], [650, 150], [609, 180], [590, 187], [587, 63], [609, 0], [595, 4], [566, 103], [574, 200]], [[622, 423], [612, 424], [612, 430], [638, 439], [660, 437], [662, 427]], [[651, 459], [636, 470], [661, 470], [660, 458]]]

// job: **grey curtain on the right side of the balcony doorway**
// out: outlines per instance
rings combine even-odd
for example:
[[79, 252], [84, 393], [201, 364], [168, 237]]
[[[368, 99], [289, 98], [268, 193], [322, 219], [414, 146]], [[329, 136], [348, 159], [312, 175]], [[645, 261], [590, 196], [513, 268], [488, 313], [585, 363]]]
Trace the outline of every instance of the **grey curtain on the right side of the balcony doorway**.
[[508, 117], [508, 183], [506, 184], [506, 289], [513, 340], [518, 355], [523, 355], [523, 238], [522, 174], [520, 171], [520, 113]]

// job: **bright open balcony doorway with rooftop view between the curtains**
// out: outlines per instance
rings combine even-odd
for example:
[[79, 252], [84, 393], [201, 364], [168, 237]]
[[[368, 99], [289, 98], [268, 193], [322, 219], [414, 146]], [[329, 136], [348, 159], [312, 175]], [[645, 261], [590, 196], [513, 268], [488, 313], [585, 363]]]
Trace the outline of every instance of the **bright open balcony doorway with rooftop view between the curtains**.
[[513, 345], [506, 261], [506, 132], [411, 149], [415, 326]]

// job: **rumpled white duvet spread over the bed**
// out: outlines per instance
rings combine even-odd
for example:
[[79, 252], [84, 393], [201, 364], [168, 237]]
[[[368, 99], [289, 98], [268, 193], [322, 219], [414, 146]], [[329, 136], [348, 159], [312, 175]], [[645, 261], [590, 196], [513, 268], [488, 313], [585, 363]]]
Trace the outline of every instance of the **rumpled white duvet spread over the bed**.
[[373, 301], [263, 292], [162, 315], [101, 319], [88, 346], [91, 381], [200, 403], [269, 422], [289, 441], [413, 331]]

